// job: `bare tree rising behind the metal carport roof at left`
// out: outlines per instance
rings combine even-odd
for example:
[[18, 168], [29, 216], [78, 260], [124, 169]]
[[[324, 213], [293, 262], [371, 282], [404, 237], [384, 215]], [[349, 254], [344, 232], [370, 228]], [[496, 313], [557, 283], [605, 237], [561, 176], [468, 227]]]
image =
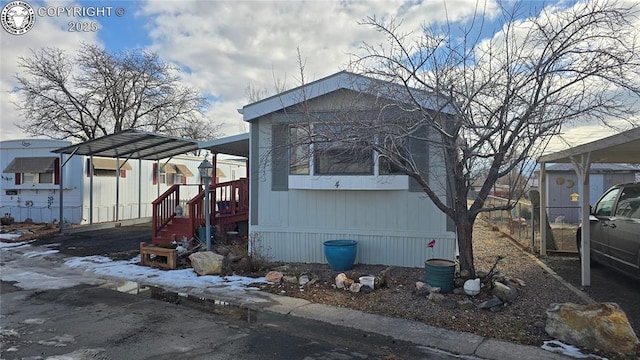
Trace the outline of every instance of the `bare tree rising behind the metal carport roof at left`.
[[75, 58], [43, 48], [19, 66], [17, 126], [30, 135], [86, 141], [139, 129], [201, 140], [218, 132], [202, 114], [206, 99], [181, 86], [178, 69], [155, 53], [83, 44]]

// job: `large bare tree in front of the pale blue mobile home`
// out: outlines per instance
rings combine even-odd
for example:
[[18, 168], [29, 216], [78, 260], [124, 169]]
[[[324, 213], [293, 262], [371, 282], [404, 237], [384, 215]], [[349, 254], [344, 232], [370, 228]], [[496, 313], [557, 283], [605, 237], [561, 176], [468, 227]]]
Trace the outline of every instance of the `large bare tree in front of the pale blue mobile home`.
[[[573, 122], [628, 119], [640, 95], [635, 5], [501, 10], [504, 24], [489, 39], [477, 35], [488, 31], [482, 9], [466, 28], [424, 27], [419, 34], [401, 32], [393, 19], [367, 18], [363, 24], [386, 41], [365, 43], [366, 55], [351, 68], [384, 80], [388, 85], [367, 91], [384, 96], [341, 94], [340, 115], [309, 110], [311, 101], [296, 110], [306, 120], [289, 142], [291, 171], [308, 172], [294, 165], [309, 156], [309, 146], [299, 145], [311, 143], [316, 172], [332, 173], [333, 165], [346, 167], [342, 173], [369, 172], [358, 159], [375, 154], [381, 173], [407, 174], [455, 223], [460, 268], [471, 274], [477, 216], [510, 210], [517, 201], [486, 205], [496, 180], [532, 169], [527, 163]], [[352, 161], [330, 160], [347, 157]], [[482, 186], [468, 199], [474, 181]]]

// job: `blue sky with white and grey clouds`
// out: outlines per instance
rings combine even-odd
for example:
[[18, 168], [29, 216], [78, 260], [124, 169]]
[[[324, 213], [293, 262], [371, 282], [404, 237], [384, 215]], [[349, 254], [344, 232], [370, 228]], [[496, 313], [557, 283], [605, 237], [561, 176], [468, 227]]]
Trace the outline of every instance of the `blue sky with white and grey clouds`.
[[[156, 52], [180, 67], [185, 85], [196, 87], [210, 100], [207, 118], [222, 124], [222, 135], [230, 136], [248, 130], [237, 110], [250, 103], [249, 86], [273, 95], [276, 83], [287, 88], [300, 83], [298, 51], [306, 80], [320, 79], [345, 69], [363, 42], [381, 41], [380, 34], [359, 24], [367, 17], [395, 17], [407, 30], [425, 24], [455, 26], [469, 20], [478, 4], [475, 0], [25, 2], [36, 14], [33, 28], [21, 35], [0, 29], [0, 140], [28, 137], [15, 126], [21, 115], [13, 103], [20, 98], [12, 90], [20, 71], [18, 59], [42, 47], [73, 54], [84, 42], [109, 52]], [[3, 7], [9, 3], [0, 1]], [[65, 9], [70, 8], [81, 14], [69, 15]], [[498, 4], [486, 0], [485, 8], [490, 20], [486, 29], [500, 26], [494, 17]], [[74, 31], [83, 27], [88, 31]], [[591, 125], [571, 130], [566, 138], [576, 145], [610, 134]]]

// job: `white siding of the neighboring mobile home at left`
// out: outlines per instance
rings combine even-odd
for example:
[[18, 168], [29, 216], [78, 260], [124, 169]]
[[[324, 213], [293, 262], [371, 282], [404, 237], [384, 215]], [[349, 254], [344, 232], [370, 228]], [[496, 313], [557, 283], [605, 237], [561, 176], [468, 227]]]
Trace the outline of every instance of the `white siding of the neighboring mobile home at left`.
[[[59, 157], [52, 150], [69, 146], [67, 141], [59, 140], [8, 140], [0, 142], [0, 170], [4, 170], [16, 157]], [[117, 178], [118, 208], [116, 218], [116, 177], [94, 176], [93, 185], [88, 176], [89, 157], [63, 156], [62, 185], [64, 192], [63, 218], [72, 224], [101, 223], [115, 220], [150, 218], [153, 213], [152, 201], [166, 191], [170, 185], [153, 184], [154, 161], [129, 160], [131, 170], [126, 177]], [[189, 155], [176, 156], [171, 163], [183, 164], [194, 174], [187, 178], [187, 186], [180, 188], [180, 200], [183, 208], [186, 202], [199, 190], [200, 179], [198, 165], [202, 157]], [[121, 159], [121, 162], [124, 162]], [[163, 163], [163, 162], [161, 162]], [[220, 163], [223, 171], [230, 175], [236, 169], [238, 177], [246, 176], [244, 166], [237, 169], [237, 162]], [[225, 166], [228, 165], [228, 170]], [[222, 179], [223, 181], [225, 179]], [[0, 213], [11, 213], [16, 221], [27, 218], [36, 223], [59, 220], [60, 185], [57, 184], [15, 184], [14, 173], [2, 173], [0, 183]], [[14, 194], [15, 193], [15, 194]], [[91, 204], [93, 193], [93, 206]], [[27, 206], [27, 203], [32, 204]]]

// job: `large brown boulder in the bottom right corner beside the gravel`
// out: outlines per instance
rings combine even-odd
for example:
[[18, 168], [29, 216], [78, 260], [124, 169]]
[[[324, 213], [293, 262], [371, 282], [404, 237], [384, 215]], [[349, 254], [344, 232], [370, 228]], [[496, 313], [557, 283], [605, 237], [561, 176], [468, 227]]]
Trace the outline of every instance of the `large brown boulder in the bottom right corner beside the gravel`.
[[616, 303], [551, 304], [545, 331], [568, 344], [612, 353], [633, 354], [638, 337]]

